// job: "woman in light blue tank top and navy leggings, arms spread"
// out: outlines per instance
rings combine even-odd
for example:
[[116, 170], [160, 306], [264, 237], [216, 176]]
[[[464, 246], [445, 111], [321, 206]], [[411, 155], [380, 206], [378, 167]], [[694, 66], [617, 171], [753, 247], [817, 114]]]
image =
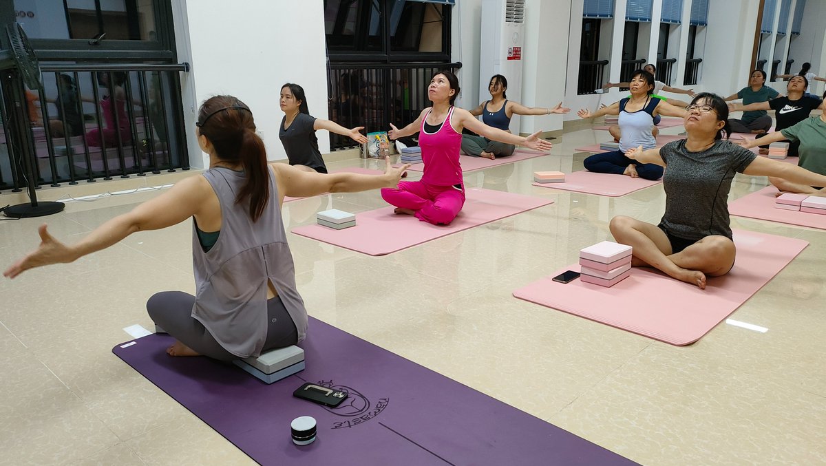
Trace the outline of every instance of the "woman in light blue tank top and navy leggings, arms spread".
[[648, 71], [634, 71], [629, 85], [631, 97], [593, 113], [590, 110], [577, 112], [580, 118], [619, 115], [619, 129], [622, 131], [619, 150], [591, 155], [585, 159], [585, 169], [601, 174], [624, 174], [631, 178], [662, 178], [662, 167], [657, 164], [638, 164], [626, 157], [625, 151], [637, 146], [642, 146], [643, 149], [657, 147], [657, 139], [652, 134], [654, 117], [660, 114], [667, 117], [684, 117], [686, 110], [652, 96], [654, 76]]

